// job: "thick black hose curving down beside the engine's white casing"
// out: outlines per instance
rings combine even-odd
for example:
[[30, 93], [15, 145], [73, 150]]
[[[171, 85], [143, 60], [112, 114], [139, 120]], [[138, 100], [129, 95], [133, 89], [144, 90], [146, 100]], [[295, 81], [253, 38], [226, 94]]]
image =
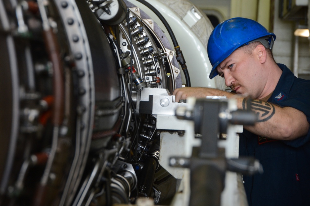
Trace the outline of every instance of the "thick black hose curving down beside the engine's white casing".
[[158, 16], [158, 18], [162, 21], [162, 23], [164, 24], [164, 26], [166, 27], [170, 37], [171, 37], [171, 40], [172, 40], [172, 43], [173, 43], [173, 46], [175, 47], [175, 51], [176, 51], [176, 59], [178, 60], [179, 64], [181, 65], [182, 67], [182, 70], [184, 72], [184, 76], [185, 76], [185, 80], [186, 80], [186, 86], [187, 87], [190, 87], [191, 86], [191, 81], [190, 81], [190, 78], [189, 78], [189, 74], [188, 74], [188, 70], [187, 70], [187, 66], [186, 66], [186, 62], [184, 60], [184, 56], [182, 54], [182, 51], [180, 49], [180, 46], [178, 44], [178, 41], [176, 40], [175, 38], [175, 35], [172, 31], [172, 29], [170, 28], [170, 25], [168, 24], [168, 22], [166, 21], [166, 19], [162, 16], [162, 14], [154, 7], [152, 6], [150, 3], [146, 2], [145, 0], [136, 0], [137, 2], [140, 2], [142, 4], [144, 4], [145, 6], [147, 6], [150, 10], [152, 10], [154, 12], [155, 15]]

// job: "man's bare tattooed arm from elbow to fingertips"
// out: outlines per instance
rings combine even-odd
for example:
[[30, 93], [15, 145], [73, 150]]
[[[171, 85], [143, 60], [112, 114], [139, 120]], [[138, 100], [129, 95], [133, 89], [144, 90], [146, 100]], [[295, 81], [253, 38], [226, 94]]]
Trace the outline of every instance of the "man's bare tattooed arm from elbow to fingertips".
[[[175, 89], [175, 102], [188, 97], [206, 98], [206, 96], [226, 96], [237, 99], [238, 109], [246, 108], [246, 99], [232, 92], [225, 92], [213, 88], [183, 87]], [[303, 112], [292, 107], [279, 107], [269, 102], [252, 100], [250, 108], [260, 115], [255, 126], [244, 126], [254, 134], [270, 137], [272, 139], [292, 140], [306, 135], [309, 130], [309, 122]], [[266, 109], [267, 108], [267, 109]]]

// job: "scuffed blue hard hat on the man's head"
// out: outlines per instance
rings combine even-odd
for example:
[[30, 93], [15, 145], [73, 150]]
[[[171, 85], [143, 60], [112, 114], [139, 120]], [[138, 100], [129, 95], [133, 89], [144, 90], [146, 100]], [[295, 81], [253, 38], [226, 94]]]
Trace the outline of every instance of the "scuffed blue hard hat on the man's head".
[[210, 79], [218, 75], [215, 68], [239, 47], [260, 41], [272, 49], [275, 39], [274, 33], [252, 19], [237, 17], [223, 21], [214, 28], [208, 40], [208, 57], [212, 65]]

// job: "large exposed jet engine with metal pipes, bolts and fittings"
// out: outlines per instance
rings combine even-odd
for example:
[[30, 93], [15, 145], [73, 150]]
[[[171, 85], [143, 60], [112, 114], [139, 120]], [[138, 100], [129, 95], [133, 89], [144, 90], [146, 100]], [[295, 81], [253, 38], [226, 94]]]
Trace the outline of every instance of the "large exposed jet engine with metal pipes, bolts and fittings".
[[126, 0], [0, 1], [0, 205], [171, 203], [157, 124], [190, 72], [153, 11], [166, 28]]

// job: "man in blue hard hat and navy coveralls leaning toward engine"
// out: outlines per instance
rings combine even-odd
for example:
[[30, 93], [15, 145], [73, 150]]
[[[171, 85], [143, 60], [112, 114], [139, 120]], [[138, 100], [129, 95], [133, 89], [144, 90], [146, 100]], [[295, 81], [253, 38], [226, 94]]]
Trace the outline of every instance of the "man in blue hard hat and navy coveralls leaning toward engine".
[[173, 95], [175, 101], [226, 96], [239, 109], [250, 107], [259, 120], [244, 126], [239, 155], [258, 159], [264, 172], [243, 176], [249, 205], [310, 205], [310, 80], [274, 61], [275, 38], [251, 19], [222, 22], [208, 41], [210, 79], [224, 77], [233, 92], [185, 87]]

